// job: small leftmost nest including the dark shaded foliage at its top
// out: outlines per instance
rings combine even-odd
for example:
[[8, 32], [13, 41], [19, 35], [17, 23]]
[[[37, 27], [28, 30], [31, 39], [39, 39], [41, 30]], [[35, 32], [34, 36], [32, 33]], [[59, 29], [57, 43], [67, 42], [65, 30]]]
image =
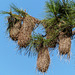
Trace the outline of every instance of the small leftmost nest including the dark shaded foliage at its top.
[[10, 38], [14, 41], [18, 40], [18, 34], [21, 28], [21, 21], [17, 20], [15, 17], [8, 17], [9, 26], [7, 30], [9, 30]]

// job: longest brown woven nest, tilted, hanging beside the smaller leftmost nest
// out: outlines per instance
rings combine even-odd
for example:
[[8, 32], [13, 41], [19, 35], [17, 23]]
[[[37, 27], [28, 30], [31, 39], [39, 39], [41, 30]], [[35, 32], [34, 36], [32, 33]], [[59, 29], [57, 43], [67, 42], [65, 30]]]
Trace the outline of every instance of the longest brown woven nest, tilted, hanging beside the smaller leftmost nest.
[[34, 17], [26, 16], [23, 20], [23, 26], [20, 29], [20, 34], [18, 37], [18, 45], [20, 47], [26, 47], [31, 39], [31, 32], [33, 31], [33, 28], [35, 24], [37, 23], [37, 20]]

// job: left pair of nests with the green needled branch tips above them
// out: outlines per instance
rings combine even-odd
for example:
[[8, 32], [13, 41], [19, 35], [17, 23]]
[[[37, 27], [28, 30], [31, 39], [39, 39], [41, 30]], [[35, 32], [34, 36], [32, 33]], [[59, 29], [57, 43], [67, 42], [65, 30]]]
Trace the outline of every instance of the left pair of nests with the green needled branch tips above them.
[[14, 4], [11, 5], [14, 11], [2, 11], [2, 14], [9, 14], [7, 17], [9, 36], [13, 41], [17, 41], [20, 48], [26, 48], [30, 44], [31, 33], [36, 24], [40, 21], [30, 16], [26, 11], [17, 8]]

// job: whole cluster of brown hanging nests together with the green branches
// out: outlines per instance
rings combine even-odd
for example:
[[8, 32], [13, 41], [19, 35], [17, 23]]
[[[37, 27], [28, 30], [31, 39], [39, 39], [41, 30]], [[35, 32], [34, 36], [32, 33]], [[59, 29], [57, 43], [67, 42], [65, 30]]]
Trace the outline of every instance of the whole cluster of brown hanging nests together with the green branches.
[[[54, 0], [50, 1], [46, 2], [46, 12], [49, 13], [49, 16], [44, 20], [34, 18], [16, 6], [11, 6], [11, 8], [17, 14], [11, 11], [2, 12], [10, 15], [7, 18], [7, 30], [9, 30], [10, 38], [13, 41], [17, 41], [20, 48], [28, 49], [29, 47], [29, 53], [34, 49], [38, 54], [37, 68], [40, 72], [48, 70], [50, 64], [49, 47], [55, 48], [58, 44], [59, 54], [67, 54], [68, 58], [70, 58], [71, 37], [75, 34], [75, 32], [72, 32], [72, 29], [75, 27], [75, 10], [70, 6], [73, 4], [61, 3], [60, 0], [56, 2]], [[31, 34], [36, 24], [43, 25], [46, 35]]]

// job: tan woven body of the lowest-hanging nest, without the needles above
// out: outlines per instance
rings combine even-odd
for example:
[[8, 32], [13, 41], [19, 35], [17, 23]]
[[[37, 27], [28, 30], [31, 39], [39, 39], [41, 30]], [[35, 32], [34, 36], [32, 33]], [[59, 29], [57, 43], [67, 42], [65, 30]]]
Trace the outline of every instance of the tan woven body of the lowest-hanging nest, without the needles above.
[[50, 64], [48, 48], [41, 48], [37, 58], [37, 68], [40, 72], [46, 72]]

